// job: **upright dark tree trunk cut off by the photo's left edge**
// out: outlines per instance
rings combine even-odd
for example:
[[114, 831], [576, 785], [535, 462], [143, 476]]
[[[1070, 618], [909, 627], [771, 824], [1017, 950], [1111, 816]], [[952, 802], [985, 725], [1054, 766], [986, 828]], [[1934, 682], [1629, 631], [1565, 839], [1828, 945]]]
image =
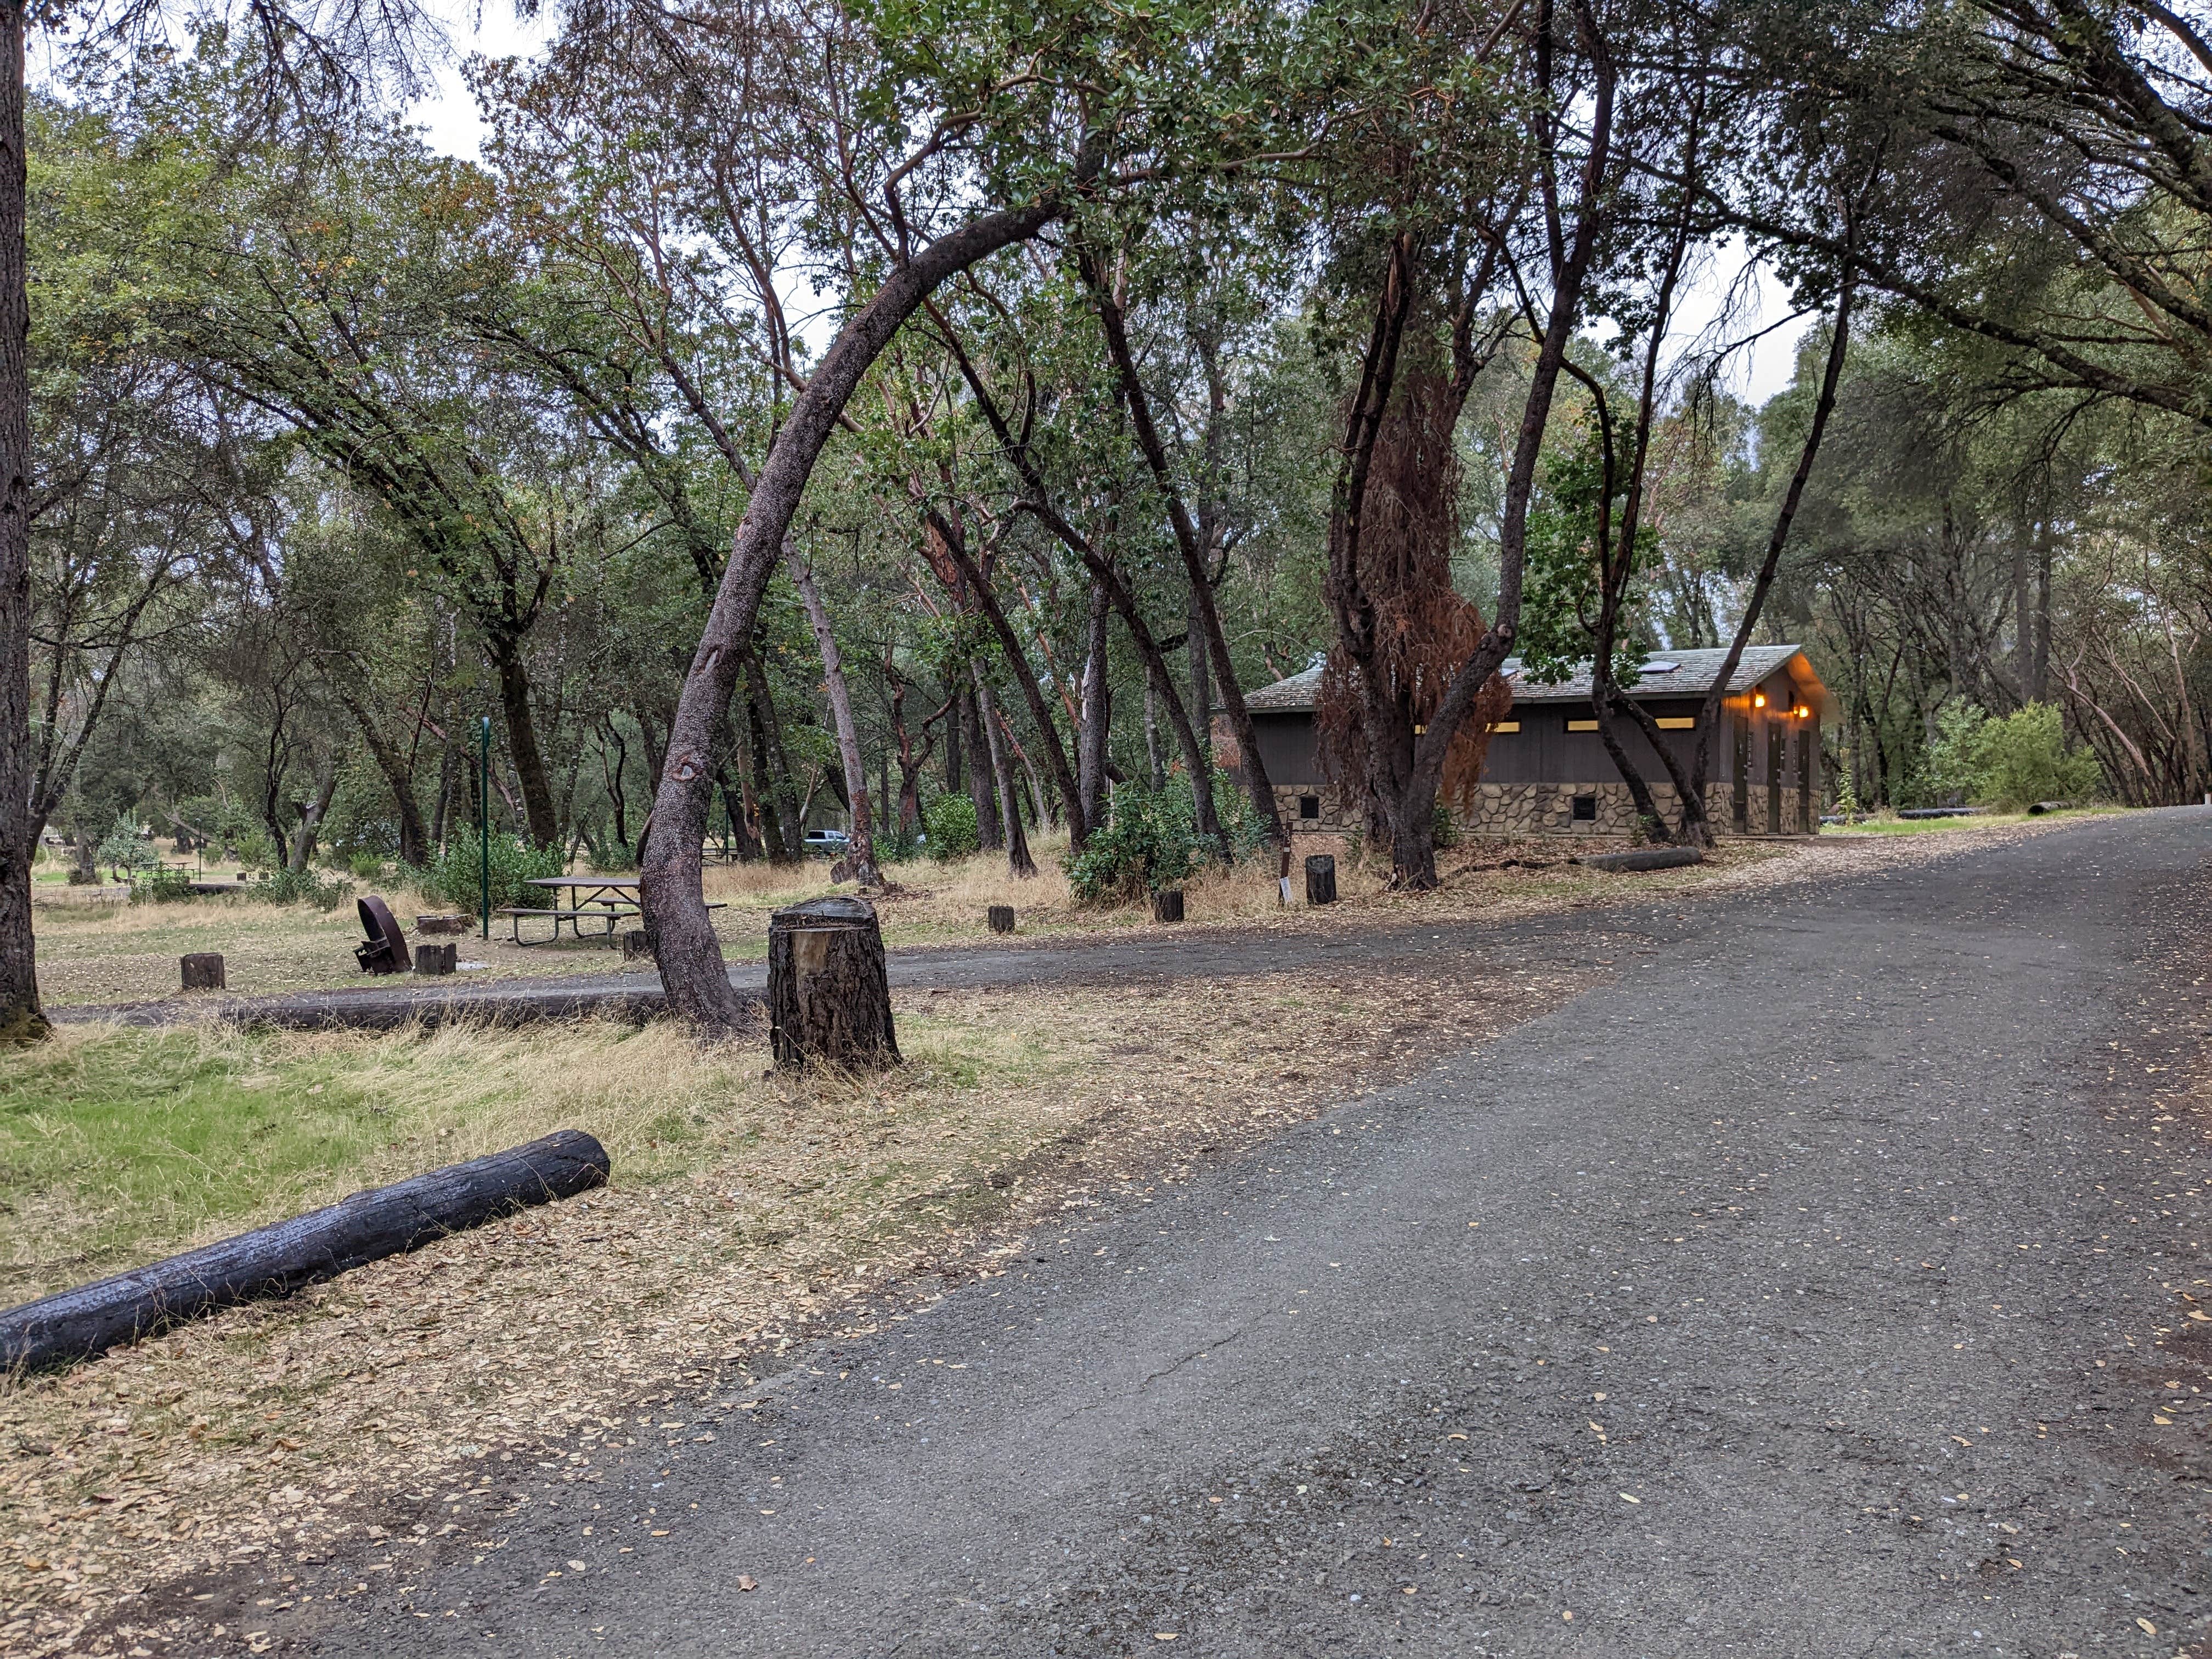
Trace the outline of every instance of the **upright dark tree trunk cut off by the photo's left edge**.
[[0, 0], [0, 1042], [46, 1035], [31, 942], [31, 296], [24, 9]]

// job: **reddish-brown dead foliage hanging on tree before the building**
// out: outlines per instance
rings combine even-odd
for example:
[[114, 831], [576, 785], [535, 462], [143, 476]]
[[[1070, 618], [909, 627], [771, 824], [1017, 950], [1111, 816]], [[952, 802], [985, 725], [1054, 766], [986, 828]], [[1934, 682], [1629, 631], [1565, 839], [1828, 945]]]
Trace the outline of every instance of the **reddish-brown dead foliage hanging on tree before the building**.
[[[1367, 473], [1358, 568], [1347, 573], [1343, 622], [1321, 672], [1314, 712], [1321, 765], [1338, 801], [1354, 803], [1376, 845], [1391, 836], [1376, 776], [1405, 737], [1418, 737], [1451, 677], [1482, 644], [1489, 624], [1451, 584], [1460, 540], [1460, 460], [1453, 442], [1464, 394], [1431, 369], [1409, 372], [1383, 416]], [[1356, 597], [1354, 597], [1356, 595]], [[1440, 799], [1467, 805], [1482, 779], [1491, 728], [1513, 706], [1500, 675], [1444, 752]]]

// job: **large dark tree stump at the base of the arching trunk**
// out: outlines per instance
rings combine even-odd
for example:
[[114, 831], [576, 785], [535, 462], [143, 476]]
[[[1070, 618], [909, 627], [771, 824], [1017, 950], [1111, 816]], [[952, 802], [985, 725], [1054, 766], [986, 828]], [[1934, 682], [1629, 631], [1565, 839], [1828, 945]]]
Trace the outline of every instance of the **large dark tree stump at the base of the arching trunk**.
[[883, 929], [865, 898], [810, 898], [768, 918], [768, 1044], [779, 1066], [896, 1066]]

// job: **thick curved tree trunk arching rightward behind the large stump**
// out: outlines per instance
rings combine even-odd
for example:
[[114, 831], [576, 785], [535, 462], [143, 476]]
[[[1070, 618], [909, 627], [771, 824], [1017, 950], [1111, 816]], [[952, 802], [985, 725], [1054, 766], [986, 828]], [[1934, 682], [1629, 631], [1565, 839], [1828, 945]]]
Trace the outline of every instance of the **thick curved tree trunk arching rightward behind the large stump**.
[[[1104, 150], [1086, 142], [1075, 179], [1097, 175]], [[739, 661], [761, 611], [768, 575], [783, 553], [799, 498], [814, 476], [823, 445], [860, 385], [860, 376], [883, 354], [900, 325], [929, 292], [958, 270], [1026, 241], [1053, 223], [1062, 201], [1048, 197], [1026, 208], [987, 212], [938, 237], [914, 261], [900, 265], [876, 296], [838, 330], [807, 389], [792, 403], [790, 420], [761, 465], [745, 518], [739, 520], [723, 566], [714, 606], [699, 633], [699, 650], [684, 677], [684, 697], [668, 734], [668, 761], [653, 805], [646, 838], [641, 894], [655, 918], [655, 942], [668, 1006], [692, 1024], [734, 1031], [745, 1018], [745, 998], [730, 984], [721, 945], [706, 911], [701, 847], [706, 841], [708, 792], [714, 785], [708, 748], [714, 719], [730, 703]], [[27, 887], [29, 889], [29, 887]]]

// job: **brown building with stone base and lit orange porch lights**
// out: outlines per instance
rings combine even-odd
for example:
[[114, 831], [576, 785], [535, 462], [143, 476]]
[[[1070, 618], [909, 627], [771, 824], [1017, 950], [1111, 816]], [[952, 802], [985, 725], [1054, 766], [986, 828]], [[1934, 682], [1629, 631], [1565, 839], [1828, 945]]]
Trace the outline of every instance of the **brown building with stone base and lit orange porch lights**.
[[[1683, 772], [1697, 750], [1705, 692], [1725, 657], [1725, 650], [1655, 653], [1628, 688], [1650, 710]], [[1509, 657], [1500, 672], [1513, 688], [1513, 708], [1491, 728], [1473, 799], [1453, 807], [1460, 830], [1475, 836], [1630, 834], [1635, 803], [1597, 737], [1588, 666], [1559, 684], [1524, 681], [1517, 657]], [[1318, 697], [1321, 668], [1245, 695], [1276, 807], [1294, 832], [1349, 827], [1321, 772], [1314, 743]], [[1745, 648], [1721, 699], [1705, 783], [1705, 812], [1719, 834], [1814, 834], [1820, 818], [1820, 721], [1832, 706], [1803, 646]], [[1674, 783], [1646, 732], [1624, 721], [1621, 741], [1641, 768], [1652, 801], [1674, 814]]]

